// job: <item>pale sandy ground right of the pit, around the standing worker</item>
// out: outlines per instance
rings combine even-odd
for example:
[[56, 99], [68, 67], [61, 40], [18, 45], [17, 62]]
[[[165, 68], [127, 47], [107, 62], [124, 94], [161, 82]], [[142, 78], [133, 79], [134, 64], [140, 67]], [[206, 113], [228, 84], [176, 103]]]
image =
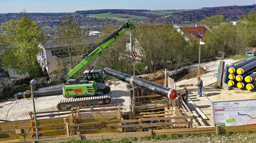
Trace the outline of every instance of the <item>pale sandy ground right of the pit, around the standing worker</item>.
[[[197, 84], [197, 78], [185, 79], [179, 81], [177, 85], [192, 85], [187, 86], [189, 90], [189, 98], [197, 105], [197, 107], [204, 112], [208, 117], [209, 125], [214, 125], [212, 116], [212, 102], [214, 101], [233, 101], [233, 100], [246, 100], [246, 99], [256, 99], [255, 92], [250, 92], [248, 90], [241, 90], [239, 88], [233, 88], [232, 90], [216, 89], [210, 85], [217, 83], [217, 68], [219, 66], [219, 61], [206, 62], [201, 64], [202, 68], [209, 70], [210, 72], [200, 75], [203, 81], [202, 97], [198, 95], [198, 88], [195, 86]], [[225, 59], [225, 62], [237, 62], [232, 59]], [[198, 67], [198, 64], [193, 65]], [[178, 87], [177, 90], [182, 90], [183, 87]]]

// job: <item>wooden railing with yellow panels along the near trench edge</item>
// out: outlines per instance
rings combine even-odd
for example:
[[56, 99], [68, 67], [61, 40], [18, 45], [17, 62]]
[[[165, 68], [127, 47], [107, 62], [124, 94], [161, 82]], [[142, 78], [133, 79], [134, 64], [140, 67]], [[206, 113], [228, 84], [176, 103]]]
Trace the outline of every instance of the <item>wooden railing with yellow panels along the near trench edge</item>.
[[[81, 117], [83, 114], [81, 114]], [[118, 116], [118, 114], [116, 114]], [[72, 124], [70, 121], [71, 118], [57, 118], [55, 120], [52, 119], [44, 119], [44, 122], [57, 122], [56, 124], [51, 125], [40, 125], [43, 124], [42, 120], [39, 122], [39, 138], [52, 138], [53, 136], [73, 136], [73, 135], [82, 135], [82, 134], [93, 134], [92, 131], [96, 131], [95, 133], [100, 133], [99, 131], [106, 131], [112, 133], [122, 133], [124, 131], [133, 131], [135, 129], [148, 129], [150, 127], [167, 127], [170, 125], [178, 125], [182, 124], [185, 127], [192, 127], [192, 121], [185, 122], [161, 122], [165, 120], [179, 120], [185, 118], [192, 118], [192, 116], [181, 116], [181, 117], [159, 117], [159, 118], [140, 118], [138, 120], [110, 120], [103, 122], [88, 122], [88, 123], [75, 123]], [[153, 123], [152, 121], [159, 121]], [[20, 124], [22, 125], [22, 124]], [[18, 126], [20, 126], [18, 125]], [[13, 125], [6, 125], [5, 127], [10, 127]], [[23, 126], [18, 127], [16, 125], [16, 129], [8, 129], [4, 131], [0, 131], [0, 142], [1, 141], [10, 141], [10, 140], [35, 140], [35, 126]], [[12, 127], [13, 128], [13, 127]], [[127, 128], [129, 128], [127, 130]], [[113, 130], [114, 129], [114, 130]], [[139, 130], [138, 130], [139, 131]]]

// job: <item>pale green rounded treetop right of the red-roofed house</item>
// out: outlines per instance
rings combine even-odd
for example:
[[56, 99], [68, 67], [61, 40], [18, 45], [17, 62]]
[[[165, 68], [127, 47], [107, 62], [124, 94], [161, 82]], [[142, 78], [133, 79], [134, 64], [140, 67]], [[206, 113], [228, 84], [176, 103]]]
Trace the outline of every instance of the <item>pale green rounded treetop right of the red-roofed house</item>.
[[229, 20], [225, 19], [224, 16], [219, 15], [219, 16], [211, 16], [206, 19], [203, 19], [202, 21], [199, 22], [199, 25], [206, 25], [212, 29], [214, 26], [218, 26], [223, 22], [229, 22]]

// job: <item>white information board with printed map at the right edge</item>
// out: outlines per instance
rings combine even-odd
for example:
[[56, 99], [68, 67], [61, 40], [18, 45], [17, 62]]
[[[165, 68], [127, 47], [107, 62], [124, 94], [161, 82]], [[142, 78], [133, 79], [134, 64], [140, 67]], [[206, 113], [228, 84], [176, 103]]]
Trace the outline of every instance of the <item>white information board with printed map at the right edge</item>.
[[212, 104], [215, 126], [256, 124], [256, 100], [219, 101]]

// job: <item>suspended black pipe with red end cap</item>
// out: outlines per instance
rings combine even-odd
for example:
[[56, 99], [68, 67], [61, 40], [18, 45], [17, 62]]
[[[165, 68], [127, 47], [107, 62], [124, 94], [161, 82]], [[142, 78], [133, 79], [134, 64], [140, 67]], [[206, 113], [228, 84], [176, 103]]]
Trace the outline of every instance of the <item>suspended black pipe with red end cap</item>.
[[144, 79], [140, 79], [138, 77], [134, 77], [132, 75], [128, 75], [125, 73], [118, 72], [116, 70], [112, 70], [110, 68], [104, 68], [104, 72], [106, 75], [111, 77], [116, 77], [125, 83], [130, 83], [131, 85], [138, 86], [145, 90], [149, 90], [150, 92], [154, 92], [155, 94], [159, 94], [160, 96], [175, 99], [177, 96], [176, 90], [172, 88], [168, 88], [166, 86], [158, 85], [156, 83], [152, 83], [150, 81], [146, 81]]

